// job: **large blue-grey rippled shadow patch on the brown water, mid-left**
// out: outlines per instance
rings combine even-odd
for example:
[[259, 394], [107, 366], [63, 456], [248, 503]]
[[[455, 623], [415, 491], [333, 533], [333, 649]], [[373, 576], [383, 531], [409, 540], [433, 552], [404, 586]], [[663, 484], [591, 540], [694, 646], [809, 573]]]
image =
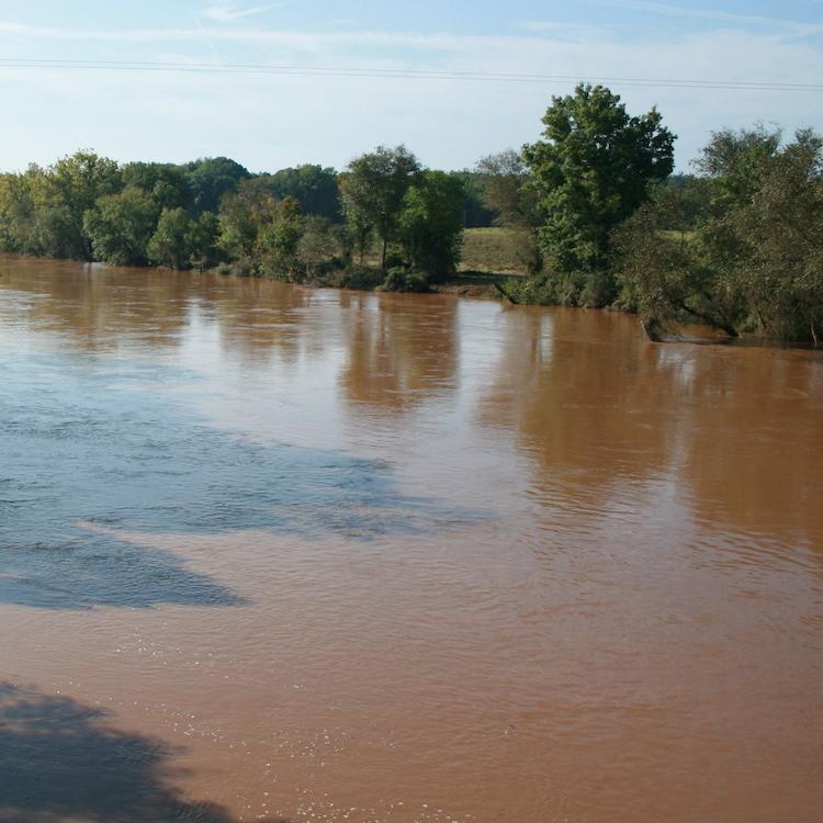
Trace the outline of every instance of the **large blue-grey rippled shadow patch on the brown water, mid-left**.
[[401, 494], [380, 461], [261, 444], [207, 426], [174, 406], [180, 385], [194, 380], [185, 372], [88, 354], [7, 354], [0, 602], [243, 602], [172, 553], [121, 540], [117, 531], [269, 530], [368, 541], [477, 517]]

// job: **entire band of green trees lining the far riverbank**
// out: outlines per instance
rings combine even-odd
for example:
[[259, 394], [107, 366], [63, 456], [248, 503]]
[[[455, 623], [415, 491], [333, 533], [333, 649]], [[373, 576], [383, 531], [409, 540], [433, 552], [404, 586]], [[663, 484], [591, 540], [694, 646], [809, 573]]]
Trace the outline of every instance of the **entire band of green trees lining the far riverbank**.
[[[601, 86], [553, 98], [542, 139], [475, 169], [380, 146], [341, 172], [252, 174], [228, 158], [120, 165], [78, 151], [0, 174], [0, 249], [294, 283], [425, 291], [494, 272], [516, 303], [639, 312], [655, 332], [816, 342], [823, 139], [712, 136], [672, 174], [675, 135]], [[511, 277], [511, 275], [517, 277]]]

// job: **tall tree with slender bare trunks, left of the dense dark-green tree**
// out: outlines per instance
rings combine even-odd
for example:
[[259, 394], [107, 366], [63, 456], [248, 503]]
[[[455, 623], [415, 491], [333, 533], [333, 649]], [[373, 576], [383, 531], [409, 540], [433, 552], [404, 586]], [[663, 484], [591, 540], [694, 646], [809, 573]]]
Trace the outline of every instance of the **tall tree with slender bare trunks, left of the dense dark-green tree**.
[[420, 173], [420, 164], [405, 146], [386, 148], [352, 160], [340, 177], [343, 213], [358, 238], [361, 259], [364, 240], [374, 230], [382, 244], [381, 267], [386, 268], [388, 244], [397, 237], [406, 192]]

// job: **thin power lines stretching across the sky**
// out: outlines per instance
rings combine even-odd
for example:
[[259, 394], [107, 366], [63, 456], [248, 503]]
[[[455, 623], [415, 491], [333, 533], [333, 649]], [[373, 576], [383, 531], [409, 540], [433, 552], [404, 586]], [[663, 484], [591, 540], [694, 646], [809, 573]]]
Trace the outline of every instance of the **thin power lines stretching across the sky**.
[[274, 75], [296, 77], [373, 78], [399, 80], [453, 80], [474, 82], [545, 83], [611, 82], [652, 88], [717, 89], [729, 91], [823, 92], [823, 83], [765, 80], [672, 79], [609, 77], [599, 75], [540, 75], [447, 69], [382, 69], [335, 66], [270, 65], [250, 63], [158, 63], [148, 60], [77, 60], [0, 57], [0, 69], [59, 69], [72, 71], [153, 71], [205, 75]]

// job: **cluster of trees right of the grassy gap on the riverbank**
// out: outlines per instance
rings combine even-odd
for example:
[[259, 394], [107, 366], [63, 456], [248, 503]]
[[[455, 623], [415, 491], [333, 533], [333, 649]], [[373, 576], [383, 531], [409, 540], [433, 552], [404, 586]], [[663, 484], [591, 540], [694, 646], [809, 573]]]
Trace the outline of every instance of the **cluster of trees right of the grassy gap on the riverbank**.
[[[597, 86], [554, 98], [543, 139], [507, 158], [511, 210], [533, 244], [516, 302], [616, 307], [650, 335], [699, 323], [816, 343], [823, 325], [823, 138], [714, 132], [694, 174], [675, 135]], [[525, 205], [523, 205], [525, 204]]]

